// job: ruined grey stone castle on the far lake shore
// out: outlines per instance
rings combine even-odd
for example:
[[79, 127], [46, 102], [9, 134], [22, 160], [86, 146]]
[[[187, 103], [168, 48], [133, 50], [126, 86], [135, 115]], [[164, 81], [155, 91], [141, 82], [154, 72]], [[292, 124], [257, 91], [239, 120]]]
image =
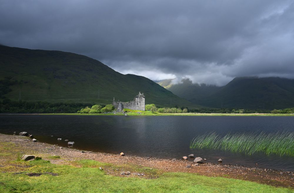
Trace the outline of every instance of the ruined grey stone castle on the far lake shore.
[[141, 94], [139, 92], [139, 94], [135, 96], [134, 100], [125, 103], [120, 102], [119, 100], [116, 102], [113, 98], [112, 105], [114, 106], [114, 108], [117, 109], [118, 112], [121, 112], [124, 108], [145, 111], [145, 96], [143, 95], [143, 93]]

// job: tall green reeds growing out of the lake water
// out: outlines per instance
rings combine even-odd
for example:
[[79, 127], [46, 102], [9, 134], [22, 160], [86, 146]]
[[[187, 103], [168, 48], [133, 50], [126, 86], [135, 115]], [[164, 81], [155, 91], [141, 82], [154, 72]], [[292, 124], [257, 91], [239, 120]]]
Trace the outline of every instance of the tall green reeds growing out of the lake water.
[[224, 137], [211, 132], [194, 137], [190, 143], [192, 149], [220, 149], [232, 152], [242, 152], [252, 155], [255, 152], [264, 152], [266, 155], [294, 157], [294, 133], [228, 133]]

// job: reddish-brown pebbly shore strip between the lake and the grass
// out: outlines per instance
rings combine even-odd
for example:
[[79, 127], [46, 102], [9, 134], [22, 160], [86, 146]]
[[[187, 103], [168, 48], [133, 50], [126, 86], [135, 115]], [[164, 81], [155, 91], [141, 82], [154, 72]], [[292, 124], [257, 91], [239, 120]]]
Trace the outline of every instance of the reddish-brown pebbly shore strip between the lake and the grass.
[[[262, 184], [269, 184], [279, 187], [294, 188], [294, 173], [283, 172], [271, 169], [263, 169], [258, 167], [242, 167], [232, 165], [218, 165], [208, 163], [192, 166], [191, 160], [175, 160], [175, 159], [157, 159], [137, 156], [120, 156], [109, 153], [100, 152], [81, 152], [73, 148], [65, 148], [58, 145], [51, 145], [42, 142], [33, 142], [29, 137], [22, 137], [17, 135], [0, 134], [0, 142], [12, 142], [16, 148], [21, 149], [23, 154], [38, 154], [38, 155], [59, 155], [60, 160], [48, 159], [54, 164], [68, 164], [69, 161], [90, 159], [99, 162], [106, 162], [115, 165], [141, 165], [145, 167], [160, 169], [162, 172], [187, 172], [198, 173], [213, 177], [227, 177], [235, 179], [249, 180]], [[1, 151], [1, 149], [0, 149]], [[44, 157], [46, 159], [46, 156]], [[5, 162], [5, 156], [0, 157], [0, 162]], [[278, 163], [277, 163], [278, 164]], [[191, 168], [187, 168], [191, 165]], [[115, 171], [106, 171], [107, 174], [119, 175]]]

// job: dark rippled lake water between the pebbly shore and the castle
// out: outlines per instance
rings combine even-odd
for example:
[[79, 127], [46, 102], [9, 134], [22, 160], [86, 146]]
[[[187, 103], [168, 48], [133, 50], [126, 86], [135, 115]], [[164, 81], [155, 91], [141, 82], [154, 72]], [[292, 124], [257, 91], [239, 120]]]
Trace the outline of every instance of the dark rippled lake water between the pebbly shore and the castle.
[[[294, 117], [254, 116], [85, 116], [85, 115], [0, 115], [0, 132], [28, 132], [41, 142], [97, 152], [143, 157], [181, 159], [193, 153], [207, 162], [294, 171], [293, 157], [245, 155], [221, 150], [191, 150], [197, 135], [217, 132], [294, 132]], [[54, 137], [51, 137], [54, 135]], [[57, 138], [62, 138], [58, 141]]]

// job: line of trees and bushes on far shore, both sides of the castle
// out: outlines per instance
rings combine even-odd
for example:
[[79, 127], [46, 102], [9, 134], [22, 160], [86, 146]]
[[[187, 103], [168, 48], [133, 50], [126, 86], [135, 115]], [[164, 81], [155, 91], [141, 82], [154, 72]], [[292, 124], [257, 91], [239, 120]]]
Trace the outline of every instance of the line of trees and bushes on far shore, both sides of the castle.
[[[91, 108], [90, 108], [91, 107]], [[113, 105], [95, 103], [49, 103], [46, 101], [13, 101], [3, 99], [0, 101], [0, 113], [105, 113], [113, 112]], [[156, 107], [154, 104], [145, 105], [146, 111], [158, 113], [282, 113], [292, 114], [294, 108], [285, 109], [234, 109], [234, 108], [200, 108], [188, 107]]]

